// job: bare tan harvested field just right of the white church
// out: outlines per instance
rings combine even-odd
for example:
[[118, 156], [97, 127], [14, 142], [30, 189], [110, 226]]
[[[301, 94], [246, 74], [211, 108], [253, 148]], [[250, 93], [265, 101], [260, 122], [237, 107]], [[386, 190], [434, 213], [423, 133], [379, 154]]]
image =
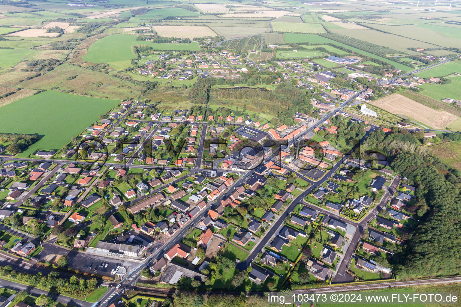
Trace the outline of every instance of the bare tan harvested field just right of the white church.
[[428, 125], [443, 129], [458, 119], [458, 116], [443, 110], [434, 110], [400, 94], [392, 94], [372, 102], [373, 105], [396, 115], [402, 115]]

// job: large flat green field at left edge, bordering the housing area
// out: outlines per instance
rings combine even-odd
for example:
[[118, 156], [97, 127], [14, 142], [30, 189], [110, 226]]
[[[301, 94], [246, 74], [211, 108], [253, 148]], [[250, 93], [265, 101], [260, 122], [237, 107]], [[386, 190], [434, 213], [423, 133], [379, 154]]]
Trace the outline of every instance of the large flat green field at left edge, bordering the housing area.
[[42, 137], [19, 156], [28, 156], [37, 149], [59, 150], [119, 102], [46, 91], [1, 107], [0, 131]]

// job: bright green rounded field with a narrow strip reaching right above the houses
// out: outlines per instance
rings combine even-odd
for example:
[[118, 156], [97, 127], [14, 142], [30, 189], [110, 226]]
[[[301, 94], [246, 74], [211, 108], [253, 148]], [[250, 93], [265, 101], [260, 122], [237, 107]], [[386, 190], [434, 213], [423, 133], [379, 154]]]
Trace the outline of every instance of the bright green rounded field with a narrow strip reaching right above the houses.
[[135, 55], [131, 52], [133, 45], [147, 45], [156, 50], [199, 50], [196, 42], [191, 44], [152, 44], [146, 41], [136, 41], [136, 35], [114, 34], [106, 36], [88, 48], [83, 59], [92, 63], [107, 63], [129, 61]]

